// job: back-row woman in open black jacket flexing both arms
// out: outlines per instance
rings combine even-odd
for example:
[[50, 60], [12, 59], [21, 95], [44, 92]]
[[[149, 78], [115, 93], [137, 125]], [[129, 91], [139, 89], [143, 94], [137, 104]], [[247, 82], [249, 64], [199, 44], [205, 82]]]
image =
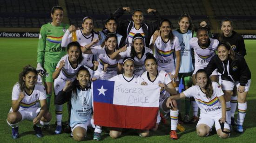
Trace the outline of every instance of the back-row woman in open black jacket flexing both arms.
[[[125, 11], [130, 11], [129, 7], [122, 7], [115, 11], [113, 16], [116, 20], [123, 15]], [[162, 20], [160, 14], [155, 10], [148, 8], [148, 13], [153, 13], [155, 15], [155, 19], [157, 21]], [[144, 17], [141, 10], [135, 10], [132, 16], [133, 21], [119, 21], [118, 32], [126, 39], [126, 44], [128, 46], [132, 45], [133, 37], [136, 33], [141, 33], [144, 37], [145, 45], [149, 47], [149, 41], [151, 35], [155, 32], [155, 30], [159, 27], [159, 23], [154, 21], [151, 23], [144, 23]]]

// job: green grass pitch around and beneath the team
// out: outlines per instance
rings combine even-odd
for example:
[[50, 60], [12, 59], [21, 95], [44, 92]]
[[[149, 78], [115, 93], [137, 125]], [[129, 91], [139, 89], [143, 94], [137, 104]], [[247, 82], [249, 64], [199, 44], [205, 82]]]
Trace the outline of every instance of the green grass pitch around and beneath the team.
[[[6, 123], [7, 114], [11, 107], [11, 95], [13, 85], [18, 81], [19, 72], [22, 70], [24, 65], [30, 64], [36, 65], [36, 50], [37, 50], [37, 41], [36, 38], [0, 38], [0, 142], [59, 142], [59, 143], [70, 143], [74, 142], [73, 138], [70, 137], [70, 134], [62, 133], [61, 135], [54, 135], [55, 129], [55, 116], [54, 116], [54, 104], [52, 97], [51, 104], [51, 113], [53, 113], [53, 119], [51, 121], [50, 129], [43, 130], [44, 137], [37, 138], [34, 135], [33, 123], [30, 121], [22, 121], [19, 124], [19, 133], [20, 138], [13, 140], [11, 137], [11, 127]], [[199, 137], [195, 132], [195, 124], [186, 124], [184, 127], [186, 130], [184, 132], [178, 132], [179, 140], [172, 142], [244, 142], [247, 141], [255, 142], [256, 139], [256, 122], [255, 122], [255, 110], [256, 109], [256, 84], [254, 83], [254, 73], [256, 72], [255, 57], [256, 57], [256, 40], [245, 40], [247, 56], [245, 56], [246, 61], [249, 65], [250, 71], [252, 73], [252, 82], [250, 86], [249, 95], [247, 97], [248, 109], [245, 117], [243, 134], [238, 134], [232, 132], [231, 136], [228, 139], [221, 139], [216, 135], [216, 131], [213, 130], [214, 134], [211, 134], [208, 137]], [[182, 101], [181, 103], [184, 103]], [[183, 106], [183, 105], [182, 105]], [[66, 107], [66, 106], [65, 106]], [[67, 121], [67, 111], [64, 108], [63, 120]], [[182, 113], [184, 108], [181, 109]], [[184, 114], [183, 114], [184, 115]], [[150, 132], [150, 137], [142, 138], [136, 135], [135, 131], [127, 130], [123, 132], [123, 136], [118, 139], [112, 139], [108, 135], [108, 130], [103, 132], [103, 141], [104, 142], [170, 142], [168, 135], [169, 125], [160, 124], [159, 130], [155, 132]], [[95, 142], [92, 140], [93, 132], [88, 133], [86, 139], [87, 142]]]

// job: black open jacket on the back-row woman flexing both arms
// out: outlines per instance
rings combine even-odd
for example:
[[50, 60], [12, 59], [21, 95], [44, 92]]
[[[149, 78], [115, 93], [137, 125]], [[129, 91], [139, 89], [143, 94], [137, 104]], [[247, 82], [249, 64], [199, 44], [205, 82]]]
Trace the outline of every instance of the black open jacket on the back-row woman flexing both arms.
[[[123, 10], [122, 8], [119, 8], [115, 11], [115, 13], [113, 14], [113, 17], [116, 20], [118, 20], [123, 15], [124, 12], [125, 12], [125, 10]], [[155, 32], [155, 30], [157, 30], [159, 28], [160, 21], [162, 20], [162, 17], [160, 16], [160, 14], [157, 11], [153, 12], [153, 14], [155, 15], [156, 21], [150, 22], [147, 24], [145, 22], [141, 23], [142, 30], [145, 34], [145, 43], [146, 43], [147, 47], [149, 47], [149, 42], [150, 42], [151, 36]], [[133, 26], [134, 26], [133, 21], [118, 20], [117, 31], [126, 39], [126, 44], [128, 43], [128, 38], [127, 38], [128, 34], [131, 31]]]

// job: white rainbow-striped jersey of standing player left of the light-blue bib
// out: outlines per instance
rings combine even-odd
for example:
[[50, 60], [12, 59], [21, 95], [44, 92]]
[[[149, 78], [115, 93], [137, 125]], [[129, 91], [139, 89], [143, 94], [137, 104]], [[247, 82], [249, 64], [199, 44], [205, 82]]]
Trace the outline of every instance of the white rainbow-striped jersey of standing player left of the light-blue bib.
[[[153, 36], [151, 36], [150, 44], [153, 41]], [[157, 60], [159, 70], [166, 72], [171, 72], [175, 70], [175, 51], [180, 51], [181, 46], [179, 39], [175, 36], [173, 41], [170, 39], [164, 42], [161, 36], [157, 37], [154, 45], [154, 57]]]

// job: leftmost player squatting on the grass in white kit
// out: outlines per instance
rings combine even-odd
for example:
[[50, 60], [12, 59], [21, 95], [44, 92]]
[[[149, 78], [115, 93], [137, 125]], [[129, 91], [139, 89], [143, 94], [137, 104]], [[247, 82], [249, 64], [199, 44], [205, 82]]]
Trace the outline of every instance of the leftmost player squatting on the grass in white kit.
[[37, 82], [36, 69], [27, 65], [20, 72], [19, 82], [13, 86], [12, 108], [7, 115], [7, 123], [12, 127], [13, 139], [19, 137], [20, 121], [25, 119], [33, 121], [35, 135], [42, 137], [39, 123], [40, 121], [43, 121], [42, 124], [49, 123], [51, 118], [47, 110], [45, 88]]

